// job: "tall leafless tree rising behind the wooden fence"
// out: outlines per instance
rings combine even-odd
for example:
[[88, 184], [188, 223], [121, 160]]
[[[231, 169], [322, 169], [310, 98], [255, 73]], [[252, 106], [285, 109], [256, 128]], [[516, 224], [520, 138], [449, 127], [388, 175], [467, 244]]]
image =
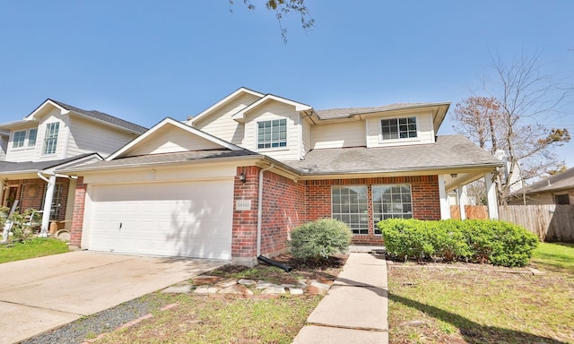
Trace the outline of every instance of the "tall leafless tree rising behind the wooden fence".
[[559, 105], [572, 89], [543, 75], [538, 57], [519, 56], [509, 64], [492, 57], [495, 81], [483, 80], [488, 97], [474, 95], [455, 107], [455, 130], [505, 162], [494, 180], [501, 204], [522, 186], [517, 183], [564, 165], [552, 148], [569, 142], [570, 133], [551, 128], [548, 119], [558, 116]]

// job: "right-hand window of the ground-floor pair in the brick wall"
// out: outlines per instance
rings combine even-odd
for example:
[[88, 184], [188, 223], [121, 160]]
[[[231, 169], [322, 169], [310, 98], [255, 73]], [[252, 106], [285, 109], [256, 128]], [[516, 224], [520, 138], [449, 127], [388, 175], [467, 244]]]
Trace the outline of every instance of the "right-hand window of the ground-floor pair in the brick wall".
[[[373, 185], [372, 194], [375, 224], [381, 219], [413, 218], [411, 185]], [[377, 226], [375, 234], [381, 234]]]

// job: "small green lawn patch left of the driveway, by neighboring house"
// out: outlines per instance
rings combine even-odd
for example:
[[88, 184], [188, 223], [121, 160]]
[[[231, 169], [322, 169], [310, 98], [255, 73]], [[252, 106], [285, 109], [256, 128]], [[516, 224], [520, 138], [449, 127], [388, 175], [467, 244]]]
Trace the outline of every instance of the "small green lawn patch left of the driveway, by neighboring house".
[[12, 245], [0, 245], [0, 263], [14, 262], [51, 254], [68, 252], [68, 246], [54, 238], [36, 237]]

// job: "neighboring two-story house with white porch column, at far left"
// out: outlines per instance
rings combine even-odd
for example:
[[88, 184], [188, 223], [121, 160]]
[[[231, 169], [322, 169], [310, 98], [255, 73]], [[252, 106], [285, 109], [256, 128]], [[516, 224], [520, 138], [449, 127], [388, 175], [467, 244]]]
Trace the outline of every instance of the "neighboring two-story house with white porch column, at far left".
[[145, 130], [47, 99], [22, 121], [0, 124], [1, 204], [43, 211], [44, 231], [50, 220], [70, 228], [76, 177], [56, 169], [101, 160]]

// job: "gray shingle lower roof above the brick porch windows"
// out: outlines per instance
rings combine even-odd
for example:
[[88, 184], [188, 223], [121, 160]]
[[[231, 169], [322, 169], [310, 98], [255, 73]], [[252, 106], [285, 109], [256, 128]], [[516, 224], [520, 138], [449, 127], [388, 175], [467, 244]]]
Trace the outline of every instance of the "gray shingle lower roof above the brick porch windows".
[[307, 175], [493, 168], [502, 165], [499, 159], [463, 135], [439, 136], [434, 144], [310, 150], [304, 160], [283, 163]]

